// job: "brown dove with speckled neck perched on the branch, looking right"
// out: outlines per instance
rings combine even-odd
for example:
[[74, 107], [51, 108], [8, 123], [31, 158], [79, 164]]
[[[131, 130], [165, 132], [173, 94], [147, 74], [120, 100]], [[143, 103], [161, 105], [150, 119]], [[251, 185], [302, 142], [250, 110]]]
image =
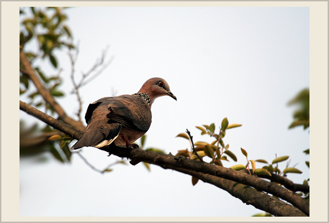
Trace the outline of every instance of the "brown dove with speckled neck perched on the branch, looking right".
[[89, 104], [85, 114], [86, 131], [71, 150], [111, 144], [131, 148], [151, 126], [154, 100], [164, 95], [177, 100], [166, 80], [154, 77], [135, 94], [103, 97]]

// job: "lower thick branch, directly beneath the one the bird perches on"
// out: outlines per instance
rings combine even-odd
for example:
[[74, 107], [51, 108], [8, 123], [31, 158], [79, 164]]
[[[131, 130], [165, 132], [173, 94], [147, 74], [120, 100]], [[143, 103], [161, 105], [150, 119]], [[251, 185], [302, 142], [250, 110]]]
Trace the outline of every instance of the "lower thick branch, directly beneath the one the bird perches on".
[[[167, 169], [165, 166], [163, 168]], [[239, 198], [247, 205], [252, 205], [255, 208], [271, 213], [275, 216], [307, 216], [298, 208], [287, 204], [286, 202], [273, 198], [272, 196], [257, 191], [254, 188], [243, 184], [236, 183], [232, 180], [215, 177], [209, 174], [198, 173], [191, 170], [175, 168], [174, 170], [194, 176], [205, 183], [212, 184], [229, 192], [232, 196]]]

